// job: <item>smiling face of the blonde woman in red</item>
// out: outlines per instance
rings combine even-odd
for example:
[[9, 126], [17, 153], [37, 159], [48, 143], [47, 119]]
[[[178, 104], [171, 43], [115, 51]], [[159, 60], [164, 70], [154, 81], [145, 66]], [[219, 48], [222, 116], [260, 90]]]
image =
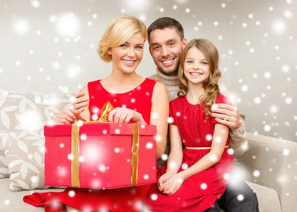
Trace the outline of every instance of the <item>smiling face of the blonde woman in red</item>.
[[118, 47], [110, 48], [113, 66], [124, 73], [132, 73], [136, 70], [144, 54], [145, 39], [141, 33], [136, 33], [125, 43]]

